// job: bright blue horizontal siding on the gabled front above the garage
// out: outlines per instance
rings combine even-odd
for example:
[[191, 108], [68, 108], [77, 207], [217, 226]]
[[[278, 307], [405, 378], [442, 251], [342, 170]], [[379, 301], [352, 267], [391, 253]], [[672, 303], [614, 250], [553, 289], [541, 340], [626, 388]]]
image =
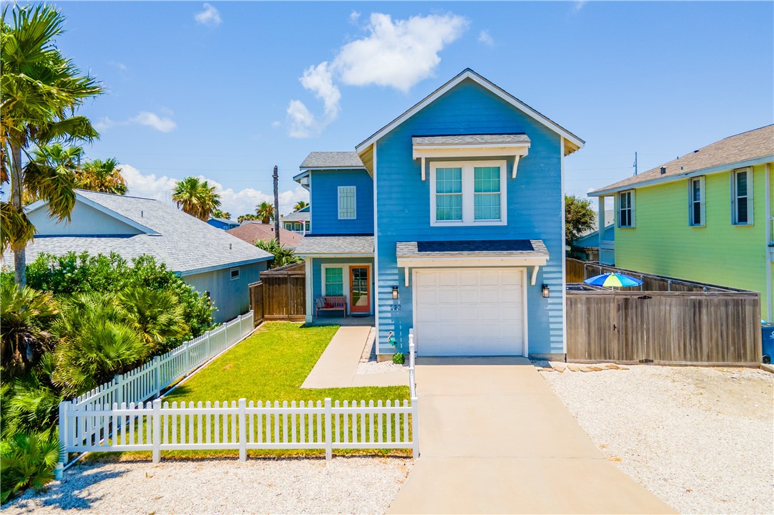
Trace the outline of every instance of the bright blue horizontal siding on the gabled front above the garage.
[[[412, 159], [412, 136], [499, 132], [523, 132], [532, 142], [529, 155], [519, 161], [515, 179], [511, 179], [513, 160], [508, 159], [508, 225], [431, 227], [429, 176], [422, 181], [420, 162]], [[457, 85], [378, 140], [376, 252], [380, 352], [392, 352], [386, 343], [390, 331], [395, 332], [399, 350], [406, 352], [409, 328], [413, 326], [412, 288], [404, 287], [403, 271], [397, 268], [396, 242], [483, 239], [536, 239], [546, 244], [550, 261], [540, 268], [536, 285], [527, 287], [529, 352], [563, 352], [564, 202], [560, 145], [560, 136], [555, 132], [471, 80]], [[550, 298], [541, 295], [543, 284], [549, 285]], [[391, 309], [394, 285], [399, 285], [399, 311]]]

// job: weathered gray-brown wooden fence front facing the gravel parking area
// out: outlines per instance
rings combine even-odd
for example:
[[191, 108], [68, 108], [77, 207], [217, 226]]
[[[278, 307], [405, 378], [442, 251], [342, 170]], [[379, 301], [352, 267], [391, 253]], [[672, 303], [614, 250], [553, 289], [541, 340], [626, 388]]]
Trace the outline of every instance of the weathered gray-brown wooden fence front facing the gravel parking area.
[[566, 292], [567, 360], [761, 362], [757, 292]]

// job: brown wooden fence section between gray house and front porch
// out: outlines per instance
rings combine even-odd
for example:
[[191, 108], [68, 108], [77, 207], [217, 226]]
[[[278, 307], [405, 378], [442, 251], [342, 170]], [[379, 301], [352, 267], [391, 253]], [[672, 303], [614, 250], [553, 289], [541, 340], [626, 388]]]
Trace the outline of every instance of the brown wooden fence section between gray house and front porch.
[[259, 304], [264, 320], [301, 322], [307, 314], [306, 264], [289, 264], [261, 272], [261, 280], [250, 285], [250, 299]]

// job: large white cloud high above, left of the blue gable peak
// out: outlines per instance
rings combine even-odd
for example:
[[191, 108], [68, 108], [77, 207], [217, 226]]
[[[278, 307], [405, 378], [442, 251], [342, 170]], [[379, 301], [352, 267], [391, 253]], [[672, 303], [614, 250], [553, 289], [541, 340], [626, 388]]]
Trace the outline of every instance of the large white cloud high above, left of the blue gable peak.
[[[351, 12], [350, 21], [357, 21], [359, 16], [359, 12]], [[368, 36], [342, 46], [333, 61], [304, 70], [299, 80], [304, 89], [323, 101], [324, 115], [317, 118], [302, 101], [290, 101], [289, 135], [317, 135], [338, 117], [341, 91], [336, 80], [351, 86], [375, 84], [408, 91], [433, 75], [440, 63], [438, 53], [466, 28], [467, 19], [452, 14], [393, 21], [390, 15], [372, 13], [365, 26]]]

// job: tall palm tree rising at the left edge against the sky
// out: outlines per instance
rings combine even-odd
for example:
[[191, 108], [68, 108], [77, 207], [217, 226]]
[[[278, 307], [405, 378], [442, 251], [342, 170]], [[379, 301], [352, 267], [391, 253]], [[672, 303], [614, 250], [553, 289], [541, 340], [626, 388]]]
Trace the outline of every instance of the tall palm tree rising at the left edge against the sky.
[[6, 23], [9, 5], [2, 10], [0, 68], [0, 165], [2, 182], [10, 182], [8, 202], [2, 201], [2, 247], [14, 251], [15, 283], [26, 284], [26, 253], [35, 227], [22, 210], [25, 189], [48, 202], [52, 217], [70, 218], [75, 203], [72, 181], [51, 169], [37, 169], [29, 176], [22, 154], [29, 162], [30, 145], [51, 142], [91, 141], [98, 132], [84, 116], [74, 112], [80, 104], [103, 93], [93, 77], [81, 75], [72, 60], [60, 53], [55, 39], [64, 17], [50, 5], [13, 4], [12, 22]]

